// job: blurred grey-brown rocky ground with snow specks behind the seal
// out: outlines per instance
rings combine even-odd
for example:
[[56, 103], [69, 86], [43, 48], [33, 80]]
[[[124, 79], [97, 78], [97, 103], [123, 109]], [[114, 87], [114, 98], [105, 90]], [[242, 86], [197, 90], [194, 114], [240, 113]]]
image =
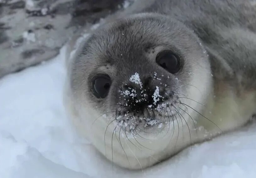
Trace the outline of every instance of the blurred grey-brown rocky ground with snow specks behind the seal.
[[51, 59], [79, 28], [129, 0], [0, 0], [0, 78]]

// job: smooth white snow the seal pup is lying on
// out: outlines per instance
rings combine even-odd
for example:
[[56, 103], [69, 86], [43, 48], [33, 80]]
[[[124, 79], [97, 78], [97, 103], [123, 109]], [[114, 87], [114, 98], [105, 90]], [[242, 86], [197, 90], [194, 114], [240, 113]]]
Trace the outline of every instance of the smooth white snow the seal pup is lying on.
[[0, 79], [0, 178], [255, 178], [256, 123], [183, 150], [149, 169], [114, 166], [79, 138], [62, 104], [60, 55]]

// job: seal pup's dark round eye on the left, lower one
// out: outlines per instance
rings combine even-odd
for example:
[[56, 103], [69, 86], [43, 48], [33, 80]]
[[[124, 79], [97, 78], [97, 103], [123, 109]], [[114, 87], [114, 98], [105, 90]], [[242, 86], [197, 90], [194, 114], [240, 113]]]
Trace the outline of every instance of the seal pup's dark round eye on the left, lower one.
[[106, 98], [109, 93], [111, 79], [107, 74], [98, 74], [92, 79], [92, 91], [97, 98]]

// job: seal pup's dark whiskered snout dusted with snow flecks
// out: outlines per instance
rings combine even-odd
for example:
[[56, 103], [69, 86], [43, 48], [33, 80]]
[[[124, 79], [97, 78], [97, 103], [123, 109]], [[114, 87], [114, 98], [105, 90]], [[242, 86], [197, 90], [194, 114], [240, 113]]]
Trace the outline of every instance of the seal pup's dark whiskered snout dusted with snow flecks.
[[132, 125], [132, 128], [137, 125], [160, 128], [165, 122], [165, 116], [170, 115], [168, 101], [172, 97], [166, 91], [168, 86], [162, 84], [163, 81], [155, 76], [140, 78], [135, 73], [129, 81], [123, 82], [118, 94], [118, 122], [123, 120], [122, 123], [127, 123], [129, 127]]

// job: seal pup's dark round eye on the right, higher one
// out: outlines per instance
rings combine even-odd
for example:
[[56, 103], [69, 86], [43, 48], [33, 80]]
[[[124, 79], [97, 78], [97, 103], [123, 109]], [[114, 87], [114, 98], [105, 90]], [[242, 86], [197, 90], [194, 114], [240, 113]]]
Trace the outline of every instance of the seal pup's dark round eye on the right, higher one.
[[180, 69], [180, 59], [170, 51], [159, 53], [156, 57], [156, 63], [172, 74]]

